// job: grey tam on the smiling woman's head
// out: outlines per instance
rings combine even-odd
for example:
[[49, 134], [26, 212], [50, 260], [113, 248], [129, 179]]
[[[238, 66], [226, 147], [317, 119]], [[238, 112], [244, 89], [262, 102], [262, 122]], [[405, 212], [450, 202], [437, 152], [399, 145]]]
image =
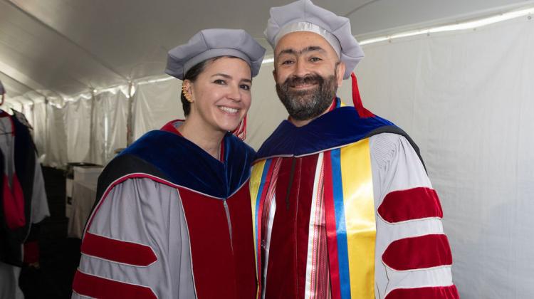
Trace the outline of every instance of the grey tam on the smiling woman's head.
[[209, 58], [234, 56], [250, 65], [252, 77], [258, 75], [265, 48], [241, 29], [205, 29], [184, 45], [169, 51], [165, 73], [184, 80], [187, 71]]

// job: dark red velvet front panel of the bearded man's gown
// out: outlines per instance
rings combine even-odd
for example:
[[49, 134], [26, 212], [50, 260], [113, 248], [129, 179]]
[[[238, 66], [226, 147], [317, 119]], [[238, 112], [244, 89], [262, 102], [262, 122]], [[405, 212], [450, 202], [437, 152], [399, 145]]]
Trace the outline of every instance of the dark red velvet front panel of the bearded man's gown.
[[[284, 158], [282, 161], [276, 183], [276, 213], [269, 247], [266, 298], [304, 296], [311, 199], [317, 159], [318, 155], [313, 154], [300, 158]], [[292, 175], [293, 163], [295, 168]]]

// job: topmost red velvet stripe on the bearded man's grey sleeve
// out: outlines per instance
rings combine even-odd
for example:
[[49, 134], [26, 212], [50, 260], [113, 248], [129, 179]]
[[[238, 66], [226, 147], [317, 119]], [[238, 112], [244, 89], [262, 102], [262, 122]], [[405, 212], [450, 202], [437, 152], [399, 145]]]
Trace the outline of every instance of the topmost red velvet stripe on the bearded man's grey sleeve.
[[378, 214], [390, 223], [431, 217], [443, 218], [436, 191], [424, 187], [390, 192], [378, 207]]

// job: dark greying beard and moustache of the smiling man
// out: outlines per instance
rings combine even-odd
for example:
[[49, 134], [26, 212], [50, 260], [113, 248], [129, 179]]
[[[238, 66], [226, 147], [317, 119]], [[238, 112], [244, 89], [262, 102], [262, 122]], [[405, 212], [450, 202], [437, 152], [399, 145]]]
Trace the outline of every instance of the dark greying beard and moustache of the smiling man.
[[[292, 90], [303, 84], [317, 84], [309, 90]], [[281, 85], [276, 83], [276, 93], [289, 116], [295, 120], [312, 120], [321, 115], [332, 103], [337, 91], [335, 75], [323, 78], [318, 74], [305, 77], [289, 77]]]

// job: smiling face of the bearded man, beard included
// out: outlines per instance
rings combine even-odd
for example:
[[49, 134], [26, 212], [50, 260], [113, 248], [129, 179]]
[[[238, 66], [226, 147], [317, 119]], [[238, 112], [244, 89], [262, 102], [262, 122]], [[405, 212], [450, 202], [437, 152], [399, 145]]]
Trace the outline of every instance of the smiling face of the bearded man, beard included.
[[283, 36], [275, 48], [276, 92], [295, 120], [323, 114], [341, 85], [345, 65], [322, 36], [299, 31]]

